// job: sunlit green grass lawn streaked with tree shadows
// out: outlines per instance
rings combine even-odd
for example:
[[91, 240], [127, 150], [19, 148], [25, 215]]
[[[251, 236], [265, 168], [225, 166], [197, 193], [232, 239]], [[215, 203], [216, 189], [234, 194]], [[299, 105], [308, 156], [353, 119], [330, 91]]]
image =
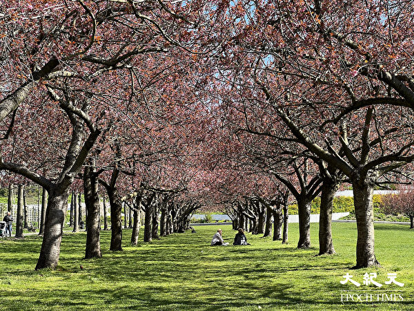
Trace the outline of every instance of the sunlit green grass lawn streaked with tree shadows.
[[[235, 232], [228, 225], [222, 229], [231, 242]], [[407, 226], [375, 225], [382, 267], [361, 270], [349, 270], [355, 264], [355, 223], [333, 223], [335, 256], [315, 256], [317, 224], [311, 227], [314, 247], [307, 250], [295, 248], [297, 224], [289, 229], [288, 245], [247, 234], [252, 245], [243, 247], [210, 247], [217, 225], [136, 247], [128, 246], [131, 232], [125, 230], [124, 252], [109, 252], [110, 233], [102, 232], [99, 260], [82, 258], [85, 233], [66, 234], [58, 269], [40, 272], [34, 265], [41, 238], [3, 239], [0, 310], [413, 310], [414, 231]], [[361, 284], [366, 272], [376, 272], [382, 284], [396, 272], [405, 285], [342, 285], [347, 272]], [[346, 293], [373, 294], [374, 301], [342, 303]], [[404, 301], [377, 302], [383, 293], [402, 294]]]

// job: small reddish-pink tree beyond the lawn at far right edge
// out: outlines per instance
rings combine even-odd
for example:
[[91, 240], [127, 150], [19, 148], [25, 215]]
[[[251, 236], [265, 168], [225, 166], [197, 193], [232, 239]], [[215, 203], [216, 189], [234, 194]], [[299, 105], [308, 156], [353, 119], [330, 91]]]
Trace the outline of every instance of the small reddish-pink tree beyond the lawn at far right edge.
[[385, 196], [382, 208], [387, 214], [402, 213], [410, 218], [410, 229], [414, 229], [414, 186], [400, 189], [399, 194]]

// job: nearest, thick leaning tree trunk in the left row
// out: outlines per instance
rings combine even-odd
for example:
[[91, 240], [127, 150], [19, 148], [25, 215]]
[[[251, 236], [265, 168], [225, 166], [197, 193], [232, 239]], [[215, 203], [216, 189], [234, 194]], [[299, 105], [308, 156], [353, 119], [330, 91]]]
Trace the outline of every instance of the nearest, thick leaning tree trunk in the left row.
[[69, 188], [62, 191], [52, 187], [49, 191], [48, 207], [46, 211], [45, 231], [36, 270], [55, 268], [59, 261], [60, 244], [68, 209]]

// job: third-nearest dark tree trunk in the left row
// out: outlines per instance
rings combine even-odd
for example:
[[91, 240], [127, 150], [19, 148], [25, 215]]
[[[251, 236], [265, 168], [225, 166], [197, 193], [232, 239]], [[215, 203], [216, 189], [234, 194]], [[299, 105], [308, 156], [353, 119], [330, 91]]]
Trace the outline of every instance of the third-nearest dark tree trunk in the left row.
[[118, 196], [116, 188], [110, 188], [108, 191], [110, 203], [110, 250], [122, 250], [122, 203]]

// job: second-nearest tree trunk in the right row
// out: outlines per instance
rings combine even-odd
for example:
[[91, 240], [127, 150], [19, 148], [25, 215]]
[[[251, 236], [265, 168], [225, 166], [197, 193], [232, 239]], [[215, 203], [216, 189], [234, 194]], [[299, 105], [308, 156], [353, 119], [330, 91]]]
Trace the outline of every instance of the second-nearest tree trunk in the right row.
[[324, 180], [321, 192], [321, 207], [319, 216], [319, 255], [335, 254], [332, 240], [332, 210], [333, 198], [337, 185], [331, 180]]

